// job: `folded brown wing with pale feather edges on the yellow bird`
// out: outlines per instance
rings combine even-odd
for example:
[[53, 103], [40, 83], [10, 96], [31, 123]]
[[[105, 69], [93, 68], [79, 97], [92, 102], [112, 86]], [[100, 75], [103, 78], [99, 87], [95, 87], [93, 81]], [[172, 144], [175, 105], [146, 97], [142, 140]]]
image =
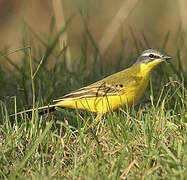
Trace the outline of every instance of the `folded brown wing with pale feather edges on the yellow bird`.
[[92, 84], [90, 86], [83, 87], [76, 91], [73, 91], [54, 102], [59, 101], [70, 101], [81, 98], [91, 98], [91, 97], [103, 97], [103, 96], [115, 96], [121, 95], [124, 93], [124, 90], [120, 85], [110, 85], [107, 83], [102, 84]]

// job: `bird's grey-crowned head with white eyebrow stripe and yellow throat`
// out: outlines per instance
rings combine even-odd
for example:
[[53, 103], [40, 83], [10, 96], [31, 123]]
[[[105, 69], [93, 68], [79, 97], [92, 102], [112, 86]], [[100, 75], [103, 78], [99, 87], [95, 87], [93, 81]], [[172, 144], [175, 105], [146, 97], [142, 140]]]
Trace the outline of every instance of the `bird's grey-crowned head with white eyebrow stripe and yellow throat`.
[[160, 51], [148, 49], [142, 52], [142, 54], [138, 57], [136, 64], [152, 70], [161, 62], [171, 58], [172, 57]]

